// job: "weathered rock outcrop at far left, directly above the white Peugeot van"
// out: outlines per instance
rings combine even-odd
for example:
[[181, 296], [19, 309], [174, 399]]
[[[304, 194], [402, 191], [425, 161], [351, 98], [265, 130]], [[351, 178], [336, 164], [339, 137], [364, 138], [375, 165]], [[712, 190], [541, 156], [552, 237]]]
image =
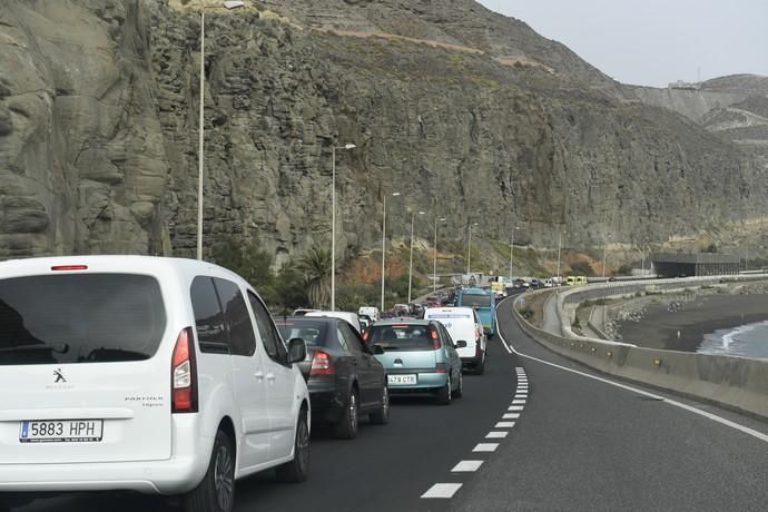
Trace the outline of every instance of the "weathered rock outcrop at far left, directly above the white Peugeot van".
[[136, 2], [0, 7], [1, 257], [159, 246], [168, 169], [141, 17]]

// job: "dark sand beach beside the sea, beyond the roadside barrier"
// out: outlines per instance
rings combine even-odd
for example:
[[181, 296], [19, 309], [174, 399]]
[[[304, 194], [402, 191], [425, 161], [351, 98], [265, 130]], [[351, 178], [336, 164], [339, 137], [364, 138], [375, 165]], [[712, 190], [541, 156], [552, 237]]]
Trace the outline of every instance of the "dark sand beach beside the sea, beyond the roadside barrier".
[[669, 301], [664, 299], [649, 305], [640, 322], [617, 322], [622, 341], [649, 348], [696, 352], [705, 334], [768, 319], [767, 294], [702, 295], [679, 304], [679, 311], [669, 311]]

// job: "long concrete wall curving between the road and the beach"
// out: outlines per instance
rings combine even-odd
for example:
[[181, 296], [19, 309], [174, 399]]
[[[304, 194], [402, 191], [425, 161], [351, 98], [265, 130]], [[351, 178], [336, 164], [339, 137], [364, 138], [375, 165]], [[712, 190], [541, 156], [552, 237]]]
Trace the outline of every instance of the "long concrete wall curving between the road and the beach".
[[[765, 279], [765, 276], [761, 278]], [[682, 288], [707, 284], [692, 284], [690, 278], [685, 280], [688, 286]], [[711, 278], [708, 280], [720, 282], [720, 279]], [[675, 289], [671, 285], [670, 283], [670, 288], [668, 288], [670, 291]], [[680, 288], [679, 283], [677, 285]], [[610, 287], [611, 285], [600, 287], [602, 286]], [[636, 285], [634, 291], [638, 286], [643, 285]], [[612, 294], [616, 291], [616, 288], [603, 289], [603, 295], [595, 295], [597, 288], [598, 286], [593, 289], [569, 292], [581, 295], [585, 301], [588, 299], [585, 295], [590, 299], [600, 298], [607, 296], [605, 292]], [[559, 295], [559, 304], [567, 293]], [[622, 294], [627, 293], [622, 291]], [[518, 325], [533, 339], [560, 355], [607, 374], [647, 383], [768, 419], [768, 360], [661, 351], [583, 336], [558, 336], [531, 325], [520, 315], [518, 306], [521, 298], [525, 297], [516, 298], [512, 308]], [[570, 333], [570, 325], [563, 332]]]

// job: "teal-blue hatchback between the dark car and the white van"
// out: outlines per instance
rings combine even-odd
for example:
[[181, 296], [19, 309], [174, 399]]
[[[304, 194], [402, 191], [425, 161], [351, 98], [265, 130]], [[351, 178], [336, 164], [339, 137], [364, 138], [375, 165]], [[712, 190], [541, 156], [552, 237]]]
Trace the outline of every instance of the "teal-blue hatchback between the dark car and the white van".
[[452, 397], [462, 395], [462, 362], [456, 348], [466, 346], [466, 342], [454, 344], [440, 322], [376, 322], [365, 333], [365, 342], [386, 370], [391, 394], [432, 393], [440, 404], [450, 404]]

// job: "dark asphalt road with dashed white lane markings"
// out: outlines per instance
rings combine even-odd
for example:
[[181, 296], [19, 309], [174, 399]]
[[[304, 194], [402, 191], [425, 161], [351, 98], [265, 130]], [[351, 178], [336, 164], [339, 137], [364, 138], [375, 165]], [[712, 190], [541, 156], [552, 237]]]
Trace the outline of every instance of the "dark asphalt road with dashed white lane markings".
[[[391, 423], [363, 424], [354, 441], [315, 432], [307, 482], [279, 484], [270, 472], [244, 480], [236, 510], [766, 510], [768, 424], [637, 384], [620, 382], [627, 390], [591, 378], [619, 382], [535, 344], [514, 325], [510, 307], [511, 301], [500, 306], [502, 335], [521, 355], [496, 337], [485, 375], [465, 376], [463, 398], [450, 406], [395, 400]], [[479, 443], [496, 446], [473, 452]], [[452, 471], [461, 461], [469, 470], [480, 466]], [[425, 493], [446, 498], [421, 498]], [[20, 510], [176, 509], [112, 493], [39, 500]]]

